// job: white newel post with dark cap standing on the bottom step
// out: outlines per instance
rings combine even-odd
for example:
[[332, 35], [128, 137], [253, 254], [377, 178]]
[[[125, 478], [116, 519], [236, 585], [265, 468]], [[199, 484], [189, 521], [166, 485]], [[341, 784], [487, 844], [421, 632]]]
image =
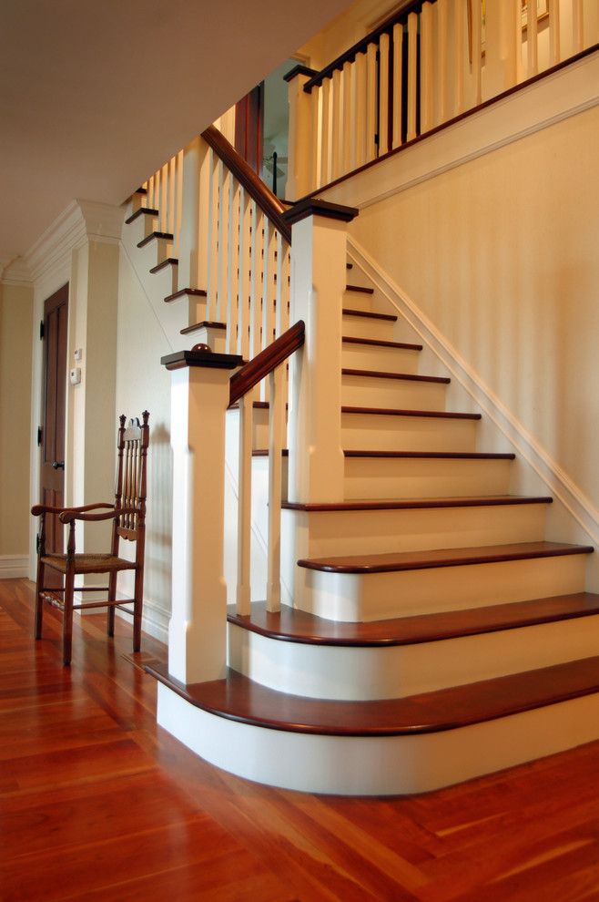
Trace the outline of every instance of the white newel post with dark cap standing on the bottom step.
[[227, 665], [224, 578], [225, 412], [233, 354], [180, 351], [171, 371], [172, 610], [168, 671], [180, 682], [222, 679]]

